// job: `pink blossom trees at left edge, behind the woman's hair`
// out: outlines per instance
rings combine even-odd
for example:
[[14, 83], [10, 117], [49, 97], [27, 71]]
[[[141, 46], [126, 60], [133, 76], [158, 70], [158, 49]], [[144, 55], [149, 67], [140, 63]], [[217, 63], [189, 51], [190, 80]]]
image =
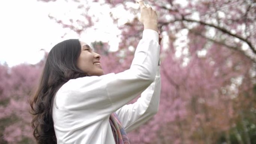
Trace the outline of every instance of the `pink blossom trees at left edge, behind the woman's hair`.
[[32, 143], [29, 95], [42, 70], [42, 64], [0, 65], [0, 143]]

